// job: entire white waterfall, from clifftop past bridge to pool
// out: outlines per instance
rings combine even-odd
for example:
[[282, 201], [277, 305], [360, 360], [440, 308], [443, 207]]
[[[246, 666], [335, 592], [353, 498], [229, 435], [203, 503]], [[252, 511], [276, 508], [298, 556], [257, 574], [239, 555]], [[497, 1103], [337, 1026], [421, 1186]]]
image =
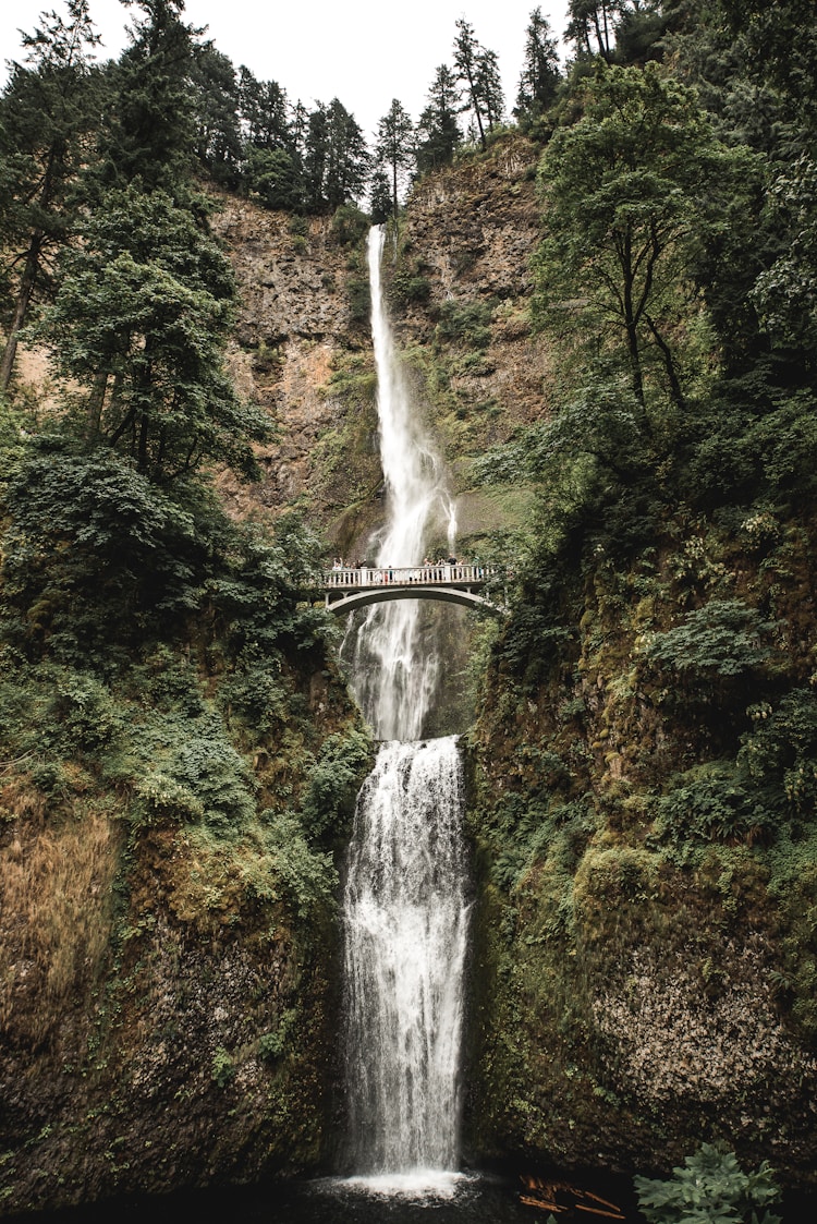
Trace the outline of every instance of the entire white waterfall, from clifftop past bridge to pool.
[[[378, 564], [416, 565], [426, 536], [456, 518], [443, 464], [420, 422], [380, 284], [384, 233], [369, 235], [386, 524]], [[358, 1175], [454, 1171], [468, 927], [456, 737], [421, 742], [438, 650], [420, 640], [420, 601], [372, 607], [356, 638], [352, 684], [386, 741], [357, 799], [344, 894], [347, 1159]], [[429, 1181], [431, 1179], [431, 1181]], [[390, 1182], [393, 1184], [393, 1182]]]

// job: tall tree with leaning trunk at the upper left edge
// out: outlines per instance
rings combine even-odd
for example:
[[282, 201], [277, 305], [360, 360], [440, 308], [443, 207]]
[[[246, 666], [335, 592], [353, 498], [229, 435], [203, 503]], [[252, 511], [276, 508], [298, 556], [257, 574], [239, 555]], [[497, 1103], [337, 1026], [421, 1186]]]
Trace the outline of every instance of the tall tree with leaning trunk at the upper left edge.
[[95, 120], [92, 91], [94, 33], [87, 0], [67, 0], [68, 20], [56, 13], [23, 34], [29, 67], [13, 64], [0, 99], [0, 245], [13, 306], [0, 357], [0, 392], [11, 379], [20, 332], [38, 293], [49, 288], [49, 264], [75, 213], [76, 176], [87, 157]]

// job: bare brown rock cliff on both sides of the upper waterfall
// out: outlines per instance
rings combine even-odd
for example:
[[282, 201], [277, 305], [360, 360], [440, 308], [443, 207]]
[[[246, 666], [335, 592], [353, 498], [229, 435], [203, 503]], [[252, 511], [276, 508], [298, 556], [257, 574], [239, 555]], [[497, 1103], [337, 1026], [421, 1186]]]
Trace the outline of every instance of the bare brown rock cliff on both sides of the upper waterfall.
[[[547, 410], [547, 353], [527, 319], [537, 233], [534, 149], [521, 138], [488, 159], [429, 175], [386, 247], [385, 282], [406, 371], [460, 494], [462, 535], [508, 526], [523, 490], [476, 490], [475, 455]], [[347, 556], [382, 518], [364, 235], [327, 218], [295, 223], [225, 200], [214, 225], [241, 306], [232, 368], [279, 428], [263, 479], [221, 480], [235, 514], [305, 506]]]

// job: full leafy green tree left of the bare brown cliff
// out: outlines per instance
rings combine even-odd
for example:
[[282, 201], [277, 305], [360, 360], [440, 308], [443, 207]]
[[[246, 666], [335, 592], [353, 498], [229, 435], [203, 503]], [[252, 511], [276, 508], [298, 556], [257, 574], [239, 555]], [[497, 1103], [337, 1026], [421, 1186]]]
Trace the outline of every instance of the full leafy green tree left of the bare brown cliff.
[[263, 416], [224, 370], [234, 282], [215, 242], [171, 197], [110, 192], [61, 259], [40, 337], [82, 388], [92, 446], [166, 483], [216, 460], [254, 474]]

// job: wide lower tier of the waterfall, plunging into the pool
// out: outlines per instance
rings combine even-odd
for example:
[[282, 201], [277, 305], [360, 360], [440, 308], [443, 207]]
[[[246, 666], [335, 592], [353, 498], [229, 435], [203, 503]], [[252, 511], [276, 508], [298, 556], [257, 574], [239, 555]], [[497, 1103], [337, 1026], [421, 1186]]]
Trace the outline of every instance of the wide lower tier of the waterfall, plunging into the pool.
[[454, 1170], [468, 927], [456, 739], [389, 743], [361, 789], [344, 897], [351, 1163]]

